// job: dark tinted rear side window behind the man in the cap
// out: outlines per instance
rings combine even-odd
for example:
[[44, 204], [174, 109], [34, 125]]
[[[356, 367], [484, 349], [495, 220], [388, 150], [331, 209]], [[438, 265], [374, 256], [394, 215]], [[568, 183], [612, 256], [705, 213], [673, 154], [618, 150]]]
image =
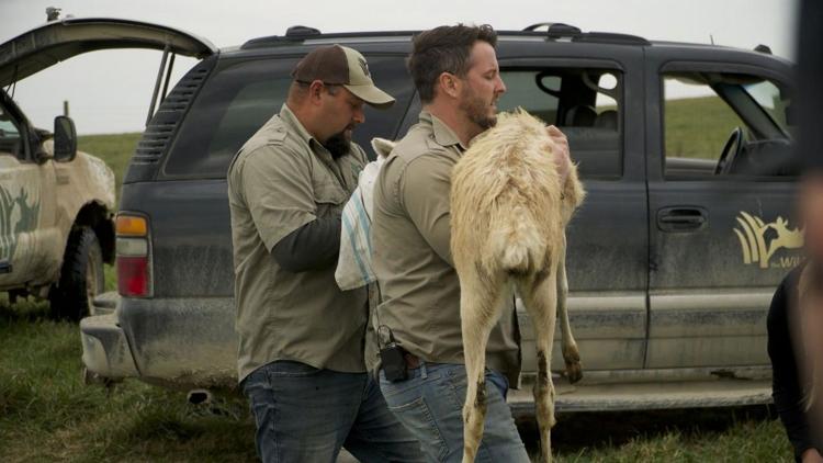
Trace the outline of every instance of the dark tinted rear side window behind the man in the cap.
[[[367, 56], [372, 78], [397, 102], [386, 111], [365, 109], [367, 123], [354, 142], [368, 154], [374, 136], [392, 138], [412, 95], [402, 56]], [[223, 63], [205, 82], [171, 147], [164, 173], [168, 177], [223, 178], [244, 143], [285, 101], [290, 72], [297, 57]]]

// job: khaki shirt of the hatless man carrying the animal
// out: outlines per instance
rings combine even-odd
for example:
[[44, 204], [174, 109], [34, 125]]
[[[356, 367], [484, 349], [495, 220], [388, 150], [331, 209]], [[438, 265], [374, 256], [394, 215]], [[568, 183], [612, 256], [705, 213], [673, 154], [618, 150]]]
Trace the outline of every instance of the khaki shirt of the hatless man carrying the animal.
[[[374, 185], [373, 263], [383, 301], [377, 321], [404, 349], [429, 362], [464, 363], [460, 282], [451, 259], [451, 170], [465, 150], [424, 111]], [[518, 385], [520, 348], [514, 301], [492, 330], [488, 368]]]

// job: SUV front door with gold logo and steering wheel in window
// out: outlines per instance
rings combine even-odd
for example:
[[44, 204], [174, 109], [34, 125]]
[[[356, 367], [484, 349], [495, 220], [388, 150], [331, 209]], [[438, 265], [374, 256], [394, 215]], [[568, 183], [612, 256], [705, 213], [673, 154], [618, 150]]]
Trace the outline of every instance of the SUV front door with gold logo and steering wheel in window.
[[[647, 138], [646, 366], [767, 365], [766, 313], [802, 245], [788, 162], [790, 69], [733, 50], [674, 56], [647, 53], [649, 108], [661, 113], [646, 120], [659, 127]], [[746, 149], [731, 170], [718, 167], [724, 146], [734, 151], [735, 127]]]

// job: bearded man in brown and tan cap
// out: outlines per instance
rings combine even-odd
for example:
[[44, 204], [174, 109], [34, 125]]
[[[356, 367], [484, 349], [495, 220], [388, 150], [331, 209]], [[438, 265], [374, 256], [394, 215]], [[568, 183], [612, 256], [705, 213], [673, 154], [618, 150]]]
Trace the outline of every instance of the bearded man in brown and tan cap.
[[365, 58], [316, 48], [292, 72], [280, 113], [228, 168], [240, 385], [264, 462], [416, 461], [419, 443], [365, 372], [364, 289], [335, 282], [340, 213], [365, 165], [351, 132], [363, 104], [394, 99]]

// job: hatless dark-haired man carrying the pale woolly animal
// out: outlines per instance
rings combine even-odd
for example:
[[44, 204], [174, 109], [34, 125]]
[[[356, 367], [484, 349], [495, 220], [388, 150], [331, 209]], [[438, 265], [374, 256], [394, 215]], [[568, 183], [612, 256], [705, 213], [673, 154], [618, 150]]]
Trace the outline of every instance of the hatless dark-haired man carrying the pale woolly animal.
[[[380, 386], [430, 461], [463, 455], [466, 373], [460, 283], [449, 250], [450, 174], [471, 140], [496, 122], [496, 102], [506, 91], [496, 42], [487, 25], [441, 26], [415, 37], [408, 68], [424, 108], [374, 185], [373, 263], [386, 347]], [[555, 160], [564, 174], [568, 144], [557, 128], [548, 131], [561, 147]], [[520, 372], [514, 301], [492, 331], [486, 360], [486, 426], [477, 460], [528, 462], [506, 405]]]

